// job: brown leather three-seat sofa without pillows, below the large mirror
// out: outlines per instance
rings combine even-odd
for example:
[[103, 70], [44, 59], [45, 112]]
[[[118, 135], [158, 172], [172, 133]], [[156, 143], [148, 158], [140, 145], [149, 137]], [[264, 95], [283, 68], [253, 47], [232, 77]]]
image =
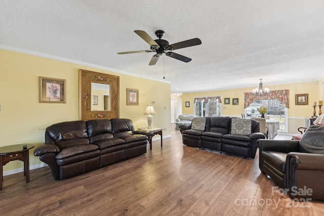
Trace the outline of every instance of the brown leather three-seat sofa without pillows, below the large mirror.
[[34, 155], [62, 180], [146, 153], [151, 134], [142, 133], [125, 118], [56, 123], [46, 128]]

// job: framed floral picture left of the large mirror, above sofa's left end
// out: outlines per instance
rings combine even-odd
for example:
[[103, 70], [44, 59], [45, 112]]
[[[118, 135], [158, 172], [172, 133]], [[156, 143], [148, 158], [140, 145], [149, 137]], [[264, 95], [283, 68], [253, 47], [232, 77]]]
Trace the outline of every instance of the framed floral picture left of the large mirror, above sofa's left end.
[[66, 103], [66, 80], [39, 76], [39, 103]]

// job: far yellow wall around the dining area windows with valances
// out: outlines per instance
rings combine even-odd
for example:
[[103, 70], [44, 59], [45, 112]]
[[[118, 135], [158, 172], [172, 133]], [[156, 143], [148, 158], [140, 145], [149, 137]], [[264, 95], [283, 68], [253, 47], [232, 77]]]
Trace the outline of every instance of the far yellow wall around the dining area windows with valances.
[[[289, 90], [289, 131], [288, 133], [298, 133], [297, 128], [304, 126], [304, 117], [310, 117], [313, 113], [313, 102], [323, 100], [322, 82], [324, 78], [315, 82], [289, 83], [278, 85], [266, 85], [270, 90]], [[317, 84], [316, 84], [317, 83]], [[188, 93], [182, 95], [182, 113], [193, 114], [193, 99], [197, 97], [221, 96], [222, 99], [230, 98], [230, 105], [222, 104], [222, 115], [224, 116], [241, 116], [244, 113], [244, 93], [252, 92], [253, 88], [230, 89], [211, 92]], [[308, 105], [295, 105], [295, 94], [308, 94]], [[232, 105], [232, 98], [238, 98], [238, 105]], [[185, 102], [190, 102], [190, 107], [185, 107]], [[318, 114], [318, 107], [316, 107]]]

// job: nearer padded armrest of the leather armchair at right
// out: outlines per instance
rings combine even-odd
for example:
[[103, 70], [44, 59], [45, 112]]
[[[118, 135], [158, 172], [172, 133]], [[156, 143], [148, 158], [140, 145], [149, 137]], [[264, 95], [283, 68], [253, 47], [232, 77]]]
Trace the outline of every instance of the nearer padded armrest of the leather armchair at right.
[[322, 154], [291, 152], [287, 154], [286, 162], [294, 169], [324, 170]]

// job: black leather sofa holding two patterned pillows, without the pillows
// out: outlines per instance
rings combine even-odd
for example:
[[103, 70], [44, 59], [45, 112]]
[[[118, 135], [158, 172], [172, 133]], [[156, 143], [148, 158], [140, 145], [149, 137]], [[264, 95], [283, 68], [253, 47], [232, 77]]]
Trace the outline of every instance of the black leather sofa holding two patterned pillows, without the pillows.
[[[205, 127], [201, 129], [192, 129], [192, 125], [180, 125], [182, 142], [184, 145], [191, 147], [254, 158], [258, 148], [257, 140], [265, 139], [265, 136], [259, 132], [259, 122], [254, 119], [246, 119], [251, 122], [251, 132], [242, 135], [232, 132], [234, 131], [232, 128], [233, 119], [241, 118], [228, 116], [206, 117]], [[243, 119], [242, 121], [246, 120]]]

